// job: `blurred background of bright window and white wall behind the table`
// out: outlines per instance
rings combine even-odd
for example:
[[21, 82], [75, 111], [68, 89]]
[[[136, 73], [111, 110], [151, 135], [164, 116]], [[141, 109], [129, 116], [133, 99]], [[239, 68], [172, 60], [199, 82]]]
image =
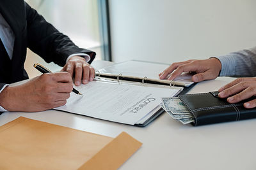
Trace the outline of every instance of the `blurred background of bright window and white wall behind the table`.
[[[148, 60], [171, 64], [207, 59], [256, 45], [253, 0], [28, 0], [96, 60]], [[28, 50], [29, 76], [34, 62]], [[60, 67], [45, 65], [56, 71]], [[33, 71], [29, 71], [33, 69]]]

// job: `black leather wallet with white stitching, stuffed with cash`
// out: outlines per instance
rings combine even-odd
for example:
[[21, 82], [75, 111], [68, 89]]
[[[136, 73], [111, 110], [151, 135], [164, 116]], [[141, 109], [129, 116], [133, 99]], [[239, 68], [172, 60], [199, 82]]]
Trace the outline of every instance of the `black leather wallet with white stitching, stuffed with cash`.
[[256, 108], [246, 109], [243, 106], [244, 102], [252, 98], [236, 104], [219, 98], [218, 92], [186, 94], [180, 95], [179, 98], [193, 115], [195, 126], [256, 118]]

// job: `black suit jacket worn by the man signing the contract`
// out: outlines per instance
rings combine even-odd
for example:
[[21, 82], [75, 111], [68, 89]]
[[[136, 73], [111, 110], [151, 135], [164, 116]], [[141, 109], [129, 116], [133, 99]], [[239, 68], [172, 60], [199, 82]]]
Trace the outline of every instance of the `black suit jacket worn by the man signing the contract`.
[[[0, 63], [0, 67], [6, 67], [0, 71], [0, 89], [6, 83], [13, 83], [28, 78], [24, 69], [26, 49], [37, 53], [46, 62], [54, 62], [64, 66], [67, 57], [72, 53], [87, 53], [91, 60], [95, 58], [95, 52], [79, 48], [64, 34], [55, 29], [31, 8], [23, 0], [1, 0], [0, 12], [15, 34], [13, 58], [10, 66]], [[3, 57], [3, 56], [0, 56]], [[8, 80], [1, 79], [3, 74], [8, 74]]]

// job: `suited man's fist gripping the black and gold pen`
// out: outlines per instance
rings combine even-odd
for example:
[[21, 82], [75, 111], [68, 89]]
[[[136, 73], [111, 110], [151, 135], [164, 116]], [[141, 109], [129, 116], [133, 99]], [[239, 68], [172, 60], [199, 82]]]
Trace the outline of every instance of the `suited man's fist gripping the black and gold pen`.
[[0, 106], [8, 111], [49, 110], [66, 104], [72, 89], [69, 73], [46, 73], [22, 85], [4, 88]]

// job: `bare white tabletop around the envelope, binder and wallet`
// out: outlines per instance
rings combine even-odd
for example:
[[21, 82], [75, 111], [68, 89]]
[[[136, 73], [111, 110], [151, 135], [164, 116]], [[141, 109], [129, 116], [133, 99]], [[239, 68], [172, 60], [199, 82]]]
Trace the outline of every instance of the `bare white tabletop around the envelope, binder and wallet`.
[[[100, 69], [111, 62], [95, 61]], [[198, 83], [191, 92], [218, 90], [232, 78]], [[256, 114], [256, 113], [255, 113]], [[116, 137], [125, 131], [143, 143], [120, 169], [256, 169], [256, 119], [223, 124], [182, 125], [163, 113], [147, 127], [116, 124], [56, 110], [3, 113], [0, 125], [27, 117], [81, 131]], [[1, 150], [0, 150], [1, 152]]]

